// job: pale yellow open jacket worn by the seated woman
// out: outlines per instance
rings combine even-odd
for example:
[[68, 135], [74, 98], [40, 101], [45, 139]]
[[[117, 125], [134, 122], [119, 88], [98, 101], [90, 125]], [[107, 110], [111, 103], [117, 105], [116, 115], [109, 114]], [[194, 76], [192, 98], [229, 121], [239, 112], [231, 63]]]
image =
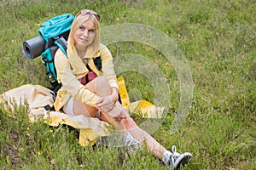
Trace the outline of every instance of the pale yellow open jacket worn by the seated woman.
[[[102, 58], [102, 70], [99, 71], [94, 65], [93, 59], [101, 55]], [[55, 111], [60, 111], [61, 107], [65, 105], [73, 96], [86, 105], [96, 105], [96, 101], [100, 99], [99, 96], [90, 92], [84, 85], [79, 82], [79, 78], [84, 77], [89, 71], [84, 65], [82, 59], [80, 59], [76, 50], [67, 48], [67, 56], [57, 50], [55, 54], [55, 68], [57, 72], [58, 82], [61, 82], [62, 87], [57, 93], [55, 99]], [[100, 44], [99, 50], [93, 56], [85, 56], [88, 59], [88, 65], [90, 69], [96, 73], [97, 76], [104, 76], [108, 80], [111, 88], [118, 88], [115, 72], [113, 70], [113, 57], [108, 48]]]

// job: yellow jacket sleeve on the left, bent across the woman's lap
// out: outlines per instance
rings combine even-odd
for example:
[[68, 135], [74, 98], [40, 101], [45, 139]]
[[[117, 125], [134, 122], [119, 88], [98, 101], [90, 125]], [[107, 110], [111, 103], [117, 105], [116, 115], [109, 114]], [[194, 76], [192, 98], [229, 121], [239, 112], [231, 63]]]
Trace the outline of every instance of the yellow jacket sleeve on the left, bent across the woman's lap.
[[58, 82], [62, 84], [63, 95], [70, 94], [74, 99], [86, 105], [96, 106], [96, 101], [100, 99], [100, 97], [92, 93], [79, 82], [77, 77], [73, 74], [67, 57], [61, 50], [58, 50], [55, 54], [55, 69]]

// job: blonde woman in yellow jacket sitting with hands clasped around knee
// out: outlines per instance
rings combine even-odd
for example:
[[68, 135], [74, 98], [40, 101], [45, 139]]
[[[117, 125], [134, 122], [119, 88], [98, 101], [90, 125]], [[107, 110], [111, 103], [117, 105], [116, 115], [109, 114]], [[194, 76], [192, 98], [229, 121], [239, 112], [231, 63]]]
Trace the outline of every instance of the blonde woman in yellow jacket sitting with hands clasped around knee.
[[[70, 115], [98, 117], [125, 131], [125, 144], [146, 144], [152, 154], [166, 165], [180, 167], [191, 158], [190, 153], [166, 150], [133, 121], [119, 103], [119, 88], [113, 70], [113, 58], [100, 42], [100, 15], [83, 9], [75, 16], [67, 40], [68, 58], [58, 50], [55, 68], [62, 87], [55, 100], [55, 110]], [[102, 68], [95, 59], [101, 56]], [[90, 80], [91, 79], [91, 80]], [[144, 141], [144, 142], [143, 142]]]

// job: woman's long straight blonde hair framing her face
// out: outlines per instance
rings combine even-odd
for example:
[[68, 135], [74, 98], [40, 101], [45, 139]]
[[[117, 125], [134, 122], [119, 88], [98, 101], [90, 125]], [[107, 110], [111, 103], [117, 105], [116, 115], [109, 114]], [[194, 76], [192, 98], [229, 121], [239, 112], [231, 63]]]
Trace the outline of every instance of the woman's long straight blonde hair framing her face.
[[87, 48], [88, 50], [86, 52], [88, 56], [92, 56], [96, 54], [96, 52], [100, 48], [100, 22], [99, 20], [96, 19], [96, 16], [93, 14], [85, 14], [85, 15], [79, 14], [74, 18], [69, 36], [67, 38], [67, 44], [68, 44], [67, 48], [71, 48], [72, 50], [75, 49], [74, 33], [79, 29], [79, 26], [81, 26], [86, 20], [91, 20], [94, 23], [95, 29], [96, 29], [95, 30], [96, 35], [94, 37], [94, 40], [88, 46]]

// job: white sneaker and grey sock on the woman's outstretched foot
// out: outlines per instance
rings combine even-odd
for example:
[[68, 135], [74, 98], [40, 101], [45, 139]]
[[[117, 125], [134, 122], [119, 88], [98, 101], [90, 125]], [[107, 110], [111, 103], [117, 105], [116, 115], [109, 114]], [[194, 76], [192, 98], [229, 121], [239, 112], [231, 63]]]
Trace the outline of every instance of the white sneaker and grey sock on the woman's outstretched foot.
[[192, 155], [189, 152], [185, 152], [183, 154], [179, 154], [176, 151], [176, 146], [172, 146], [172, 152], [169, 150], [166, 150], [163, 156], [163, 162], [168, 165], [172, 166], [173, 169], [179, 169], [180, 167], [183, 167], [185, 164], [189, 162]]

